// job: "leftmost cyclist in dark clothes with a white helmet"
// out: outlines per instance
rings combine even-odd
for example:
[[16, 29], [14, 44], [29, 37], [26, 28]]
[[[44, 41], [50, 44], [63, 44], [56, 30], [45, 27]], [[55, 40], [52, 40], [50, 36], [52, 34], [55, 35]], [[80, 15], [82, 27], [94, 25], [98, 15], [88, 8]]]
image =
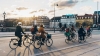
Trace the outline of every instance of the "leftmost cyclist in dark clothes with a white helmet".
[[20, 46], [20, 47], [21, 47], [21, 42], [22, 42], [22, 33], [25, 34], [23, 32], [21, 25], [22, 25], [22, 23], [18, 22], [16, 30], [15, 30], [15, 36], [17, 36], [19, 38], [18, 46]]

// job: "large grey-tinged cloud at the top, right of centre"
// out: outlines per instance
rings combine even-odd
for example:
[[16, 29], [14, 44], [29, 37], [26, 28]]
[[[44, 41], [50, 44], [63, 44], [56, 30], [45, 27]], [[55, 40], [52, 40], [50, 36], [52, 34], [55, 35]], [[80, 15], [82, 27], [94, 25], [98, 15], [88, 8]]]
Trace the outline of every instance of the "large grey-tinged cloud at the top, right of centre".
[[51, 2], [51, 6], [57, 6], [60, 9], [64, 9], [66, 7], [73, 7], [78, 3], [78, 0], [58, 0], [56, 2]]

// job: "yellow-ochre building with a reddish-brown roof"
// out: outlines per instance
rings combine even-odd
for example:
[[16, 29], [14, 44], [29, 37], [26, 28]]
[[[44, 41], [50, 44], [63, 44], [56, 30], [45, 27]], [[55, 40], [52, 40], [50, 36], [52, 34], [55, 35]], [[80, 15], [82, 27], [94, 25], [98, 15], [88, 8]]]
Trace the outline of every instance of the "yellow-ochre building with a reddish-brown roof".
[[93, 15], [92, 14], [85, 14], [85, 15], [78, 15], [76, 19], [76, 26], [79, 27], [81, 25], [87, 27], [92, 26], [93, 24]]

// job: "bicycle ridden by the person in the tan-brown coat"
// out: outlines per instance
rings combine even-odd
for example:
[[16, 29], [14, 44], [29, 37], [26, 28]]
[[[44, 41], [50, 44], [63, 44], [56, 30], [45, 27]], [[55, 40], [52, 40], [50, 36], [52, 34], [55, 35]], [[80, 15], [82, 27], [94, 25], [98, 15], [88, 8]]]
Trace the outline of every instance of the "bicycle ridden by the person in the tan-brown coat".
[[34, 42], [34, 47], [36, 49], [39, 49], [41, 47], [41, 43], [45, 43], [46, 46], [50, 47], [53, 44], [53, 40], [51, 38], [51, 34], [47, 34], [44, 42], [42, 42], [42, 37], [41, 36], [36, 36], [36, 41]]

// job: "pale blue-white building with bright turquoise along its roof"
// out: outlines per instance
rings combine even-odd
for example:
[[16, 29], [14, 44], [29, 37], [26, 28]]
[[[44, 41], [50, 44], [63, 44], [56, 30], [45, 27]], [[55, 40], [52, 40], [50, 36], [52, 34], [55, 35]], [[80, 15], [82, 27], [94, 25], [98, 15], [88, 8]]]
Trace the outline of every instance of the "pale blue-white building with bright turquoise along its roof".
[[77, 14], [69, 14], [69, 15], [62, 15], [61, 23], [64, 25], [66, 24], [67, 27], [76, 24], [76, 17]]

